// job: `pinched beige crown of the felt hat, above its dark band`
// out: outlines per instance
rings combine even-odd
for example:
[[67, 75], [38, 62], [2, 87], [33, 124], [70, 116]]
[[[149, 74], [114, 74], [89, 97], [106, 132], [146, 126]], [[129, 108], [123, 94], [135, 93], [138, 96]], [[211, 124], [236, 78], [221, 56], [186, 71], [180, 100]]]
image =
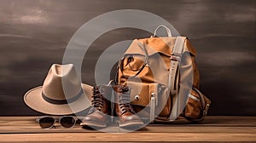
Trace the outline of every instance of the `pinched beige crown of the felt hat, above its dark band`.
[[51, 100], [69, 100], [81, 91], [81, 82], [73, 64], [50, 67], [42, 94]]

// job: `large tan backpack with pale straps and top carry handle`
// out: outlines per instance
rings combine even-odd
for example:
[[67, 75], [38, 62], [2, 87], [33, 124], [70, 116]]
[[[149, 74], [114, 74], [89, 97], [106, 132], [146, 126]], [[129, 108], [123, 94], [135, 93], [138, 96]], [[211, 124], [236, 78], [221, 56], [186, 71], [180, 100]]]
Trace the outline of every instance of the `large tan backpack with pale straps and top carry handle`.
[[[165, 27], [168, 37], [155, 37]], [[159, 26], [154, 36], [135, 39], [119, 60], [117, 82], [131, 87], [137, 115], [154, 122], [200, 122], [211, 101], [199, 91], [195, 49], [187, 37]]]

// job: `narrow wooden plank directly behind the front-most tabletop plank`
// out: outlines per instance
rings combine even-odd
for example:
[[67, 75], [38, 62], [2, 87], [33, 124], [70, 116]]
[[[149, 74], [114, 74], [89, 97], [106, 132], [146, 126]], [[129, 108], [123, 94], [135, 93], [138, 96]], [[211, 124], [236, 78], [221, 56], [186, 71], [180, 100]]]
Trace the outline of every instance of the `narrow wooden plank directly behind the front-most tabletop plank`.
[[[39, 129], [38, 127], [34, 127], [37, 129], [31, 128], [22, 128], [22, 127], [1, 127], [0, 133], [99, 133], [100, 131], [95, 129], [82, 129], [80, 127], [76, 127], [73, 129]], [[133, 130], [128, 129], [119, 129], [117, 127], [108, 127], [106, 129], [102, 129], [102, 132], [133, 132]], [[139, 129], [135, 131], [137, 133], [255, 133], [256, 128], [254, 127], [152, 127], [147, 126], [143, 129]]]

